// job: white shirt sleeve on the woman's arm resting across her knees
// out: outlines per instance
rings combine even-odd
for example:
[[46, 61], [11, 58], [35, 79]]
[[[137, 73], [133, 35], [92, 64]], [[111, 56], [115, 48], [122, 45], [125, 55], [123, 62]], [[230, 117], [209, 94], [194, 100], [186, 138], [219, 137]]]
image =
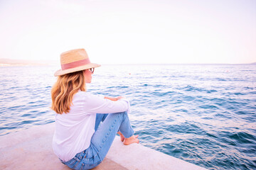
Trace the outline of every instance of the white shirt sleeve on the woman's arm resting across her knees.
[[87, 113], [119, 113], [129, 111], [129, 101], [120, 99], [119, 101], [110, 101], [102, 96], [93, 94], [85, 95], [84, 109]]

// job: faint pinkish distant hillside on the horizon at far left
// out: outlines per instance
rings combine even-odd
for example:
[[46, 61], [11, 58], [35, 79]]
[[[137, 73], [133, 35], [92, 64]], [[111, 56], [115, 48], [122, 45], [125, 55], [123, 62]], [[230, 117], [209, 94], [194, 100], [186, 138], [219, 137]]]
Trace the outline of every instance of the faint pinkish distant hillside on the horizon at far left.
[[53, 62], [46, 60], [12, 60], [12, 59], [0, 59], [0, 66], [22, 66], [22, 65], [50, 65]]

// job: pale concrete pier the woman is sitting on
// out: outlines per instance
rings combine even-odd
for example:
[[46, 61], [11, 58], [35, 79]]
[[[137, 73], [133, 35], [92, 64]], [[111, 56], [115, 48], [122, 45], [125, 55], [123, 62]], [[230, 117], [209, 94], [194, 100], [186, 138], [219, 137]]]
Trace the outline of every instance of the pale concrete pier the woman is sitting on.
[[[69, 169], [52, 149], [54, 123], [0, 137], [0, 169]], [[95, 170], [206, 170], [139, 144], [125, 146], [116, 137], [107, 157]]]

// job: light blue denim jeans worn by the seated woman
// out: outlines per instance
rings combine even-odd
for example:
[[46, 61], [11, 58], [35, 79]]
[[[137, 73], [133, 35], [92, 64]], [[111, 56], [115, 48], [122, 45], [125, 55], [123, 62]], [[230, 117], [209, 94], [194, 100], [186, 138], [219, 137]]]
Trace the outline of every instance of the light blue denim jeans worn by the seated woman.
[[[102, 122], [101, 125], [100, 122]], [[100, 128], [98, 128], [99, 125]], [[97, 114], [95, 133], [92, 135], [90, 147], [76, 154], [68, 162], [60, 161], [71, 169], [94, 168], [106, 157], [118, 131], [122, 132], [126, 138], [134, 135], [127, 112]]]

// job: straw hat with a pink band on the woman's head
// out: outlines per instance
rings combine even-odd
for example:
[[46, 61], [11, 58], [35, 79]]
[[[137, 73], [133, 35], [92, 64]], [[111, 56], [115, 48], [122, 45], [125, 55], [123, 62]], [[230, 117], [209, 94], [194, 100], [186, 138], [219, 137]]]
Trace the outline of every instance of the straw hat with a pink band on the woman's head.
[[100, 67], [100, 64], [90, 62], [87, 52], [83, 48], [61, 53], [60, 64], [61, 69], [55, 72], [55, 77], [84, 69]]

